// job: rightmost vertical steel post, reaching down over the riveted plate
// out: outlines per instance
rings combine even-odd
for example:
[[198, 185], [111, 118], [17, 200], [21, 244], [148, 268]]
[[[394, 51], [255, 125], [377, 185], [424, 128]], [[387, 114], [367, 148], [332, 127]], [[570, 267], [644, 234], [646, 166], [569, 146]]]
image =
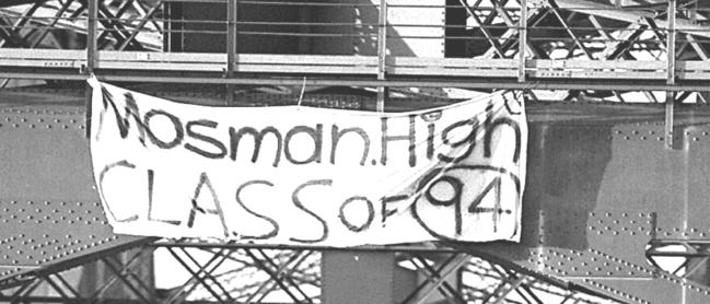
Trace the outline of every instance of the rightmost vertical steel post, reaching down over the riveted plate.
[[[675, 84], [675, 12], [676, 0], [668, 0], [667, 12], [667, 34], [666, 34], [666, 52], [667, 52], [667, 67], [666, 67], [666, 83]], [[674, 133], [673, 133], [673, 116], [675, 112], [675, 92], [665, 92], [665, 148], [673, 149]]]

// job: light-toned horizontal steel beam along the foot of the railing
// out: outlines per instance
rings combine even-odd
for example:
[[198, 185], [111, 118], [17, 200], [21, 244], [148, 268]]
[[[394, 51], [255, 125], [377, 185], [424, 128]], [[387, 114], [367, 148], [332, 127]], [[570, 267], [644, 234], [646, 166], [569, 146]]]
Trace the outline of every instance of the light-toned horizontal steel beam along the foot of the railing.
[[[115, 71], [375, 75], [376, 56], [238, 54], [228, 67], [226, 54], [150, 52], [98, 50], [96, 69]], [[388, 57], [389, 77], [487, 77], [516, 78], [515, 59]], [[525, 60], [525, 72], [538, 79], [665, 80], [667, 63], [660, 60]], [[19, 69], [75, 69], [86, 66], [83, 50], [0, 48], [0, 66]], [[675, 74], [685, 80], [709, 80], [710, 61], [678, 60]]]

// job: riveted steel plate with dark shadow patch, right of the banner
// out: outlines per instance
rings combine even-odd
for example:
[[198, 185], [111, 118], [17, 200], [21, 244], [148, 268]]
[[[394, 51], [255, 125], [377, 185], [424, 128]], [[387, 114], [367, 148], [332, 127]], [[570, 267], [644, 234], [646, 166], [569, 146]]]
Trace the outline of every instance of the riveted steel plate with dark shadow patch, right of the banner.
[[470, 250], [628, 303], [708, 303], [709, 282], [663, 272], [649, 242], [708, 241], [710, 107], [679, 106], [673, 149], [654, 105], [529, 105], [522, 245]]

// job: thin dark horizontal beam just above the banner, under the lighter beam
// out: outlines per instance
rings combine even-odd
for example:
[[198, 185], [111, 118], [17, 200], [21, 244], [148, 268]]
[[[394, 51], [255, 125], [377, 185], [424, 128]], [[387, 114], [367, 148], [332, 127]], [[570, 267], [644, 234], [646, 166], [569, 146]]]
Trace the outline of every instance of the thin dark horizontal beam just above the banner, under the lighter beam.
[[[97, 74], [103, 81], [118, 82], [154, 82], [154, 83], [200, 83], [200, 84], [251, 84], [251, 85], [298, 85], [304, 84], [303, 78], [273, 75], [240, 74], [235, 78], [223, 78], [221, 73], [113, 73]], [[0, 78], [34, 79], [34, 80], [75, 80], [83, 81], [86, 75], [72, 72], [0, 72]], [[336, 78], [309, 77], [306, 86], [389, 86], [389, 87], [462, 87], [462, 89], [501, 89], [501, 90], [597, 90], [597, 91], [710, 91], [707, 81], [678, 81], [667, 84], [665, 81], [637, 80], [621, 81], [617, 79], [569, 80], [569, 79], [537, 79], [527, 78], [517, 82], [516, 78], [391, 78], [376, 80], [374, 78]]]

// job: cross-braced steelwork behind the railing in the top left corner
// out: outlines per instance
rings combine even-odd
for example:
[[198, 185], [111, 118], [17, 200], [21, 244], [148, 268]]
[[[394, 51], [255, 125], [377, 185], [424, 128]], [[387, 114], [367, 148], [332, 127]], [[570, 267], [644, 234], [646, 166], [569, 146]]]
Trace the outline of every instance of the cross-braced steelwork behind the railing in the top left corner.
[[[2, 5], [3, 47], [84, 49], [89, 4], [96, 7], [98, 48], [116, 50], [162, 49], [162, 1], [32, 1]], [[5, 4], [5, 3], [3, 3]], [[93, 4], [93, 3], [92, 3]], [[91, 5], [93, 7], [93, 5]]]

